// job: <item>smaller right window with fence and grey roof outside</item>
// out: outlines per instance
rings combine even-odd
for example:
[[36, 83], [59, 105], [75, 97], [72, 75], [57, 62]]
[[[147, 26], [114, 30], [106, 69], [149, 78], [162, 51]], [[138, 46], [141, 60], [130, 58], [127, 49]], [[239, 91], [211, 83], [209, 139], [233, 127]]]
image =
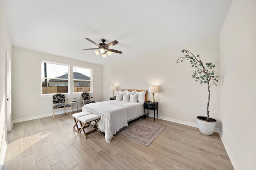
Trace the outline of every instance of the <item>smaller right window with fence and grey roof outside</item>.
[[92, 92], [92, 69], [84, 67], [73, 67], [74, 93]]

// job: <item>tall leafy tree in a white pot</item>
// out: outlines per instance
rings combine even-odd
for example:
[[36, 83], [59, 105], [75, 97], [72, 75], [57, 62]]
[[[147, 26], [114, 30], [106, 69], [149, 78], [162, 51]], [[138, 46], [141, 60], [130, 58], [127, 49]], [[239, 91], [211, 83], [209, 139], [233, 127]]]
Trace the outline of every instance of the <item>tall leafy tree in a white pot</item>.
[[197, 123], [198, 128], [202, 134], [212, 135], [215, 129], [216, 120], [209, 118], [209, 103], [210, 103], [210, 86], [216, 85], [218, 82], [220, 75], [214, 75], [214, 67], [215, 65], [212, 63], [203, 63], [200, 59], [199, 54], [194, 55], [190, 51], [183, 49], [181, 51], [184, 55], [183, 57], [178, 57], [177, 63], [183, 62], [184, 60], [188, 60], [191, 63], [191, 67], [195, 67], [196, 71], [192, 73], [192, 77], [196, 79], [201, 85], [206, 83], [208, 86], [208, 102], [206, 105], [206, 114], [207, 116], [198, 116]]

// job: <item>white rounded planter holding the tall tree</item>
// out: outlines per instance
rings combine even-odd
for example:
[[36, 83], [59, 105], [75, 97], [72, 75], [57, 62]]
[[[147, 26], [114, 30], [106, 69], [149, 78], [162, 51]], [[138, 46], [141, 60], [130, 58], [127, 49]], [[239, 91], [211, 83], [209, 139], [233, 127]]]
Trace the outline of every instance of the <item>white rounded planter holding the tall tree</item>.
[[209, 121], [206, 121], [206, 117], [203, 116], [198, 116], [196, 118], [200, 132], [205, 135], [212, 135], [217, 121], [212, 118], [209, 118]]

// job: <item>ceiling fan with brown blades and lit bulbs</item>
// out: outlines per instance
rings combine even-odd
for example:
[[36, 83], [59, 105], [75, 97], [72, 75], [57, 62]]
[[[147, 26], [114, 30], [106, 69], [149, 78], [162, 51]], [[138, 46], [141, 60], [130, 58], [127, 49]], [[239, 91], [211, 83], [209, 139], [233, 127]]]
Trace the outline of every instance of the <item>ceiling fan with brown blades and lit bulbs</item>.
[[108, 44], [105, 43], [106, 40], [102, 39], [102, 43], [96, 43], [92, 40], [90, 40], [89, 38], [85, 38], [86, 40], [88, 40], [89, 42], [91, 43], [94, 43], [95, 45], [97, 45], [99, 48], [86, 48], [84, 50], [88, 50], [88, 49], [97, 49], [97, 51], [95, 51], [96, 55], [98, 55], [99, 53], [102, 53], [102, 57], [106, 57], [106, 53], [108, 55], [111, 55], [111, 52], [114, 52], [114, 53], [120, 53], [122, 54], [122, 51], [118, 51], [118, 50], [115, 50], [115, 49], [110, 49], [109, 47], [112, 47], [113, 45], [116, 45], [118, 43], [118, 41], [114, 40]]

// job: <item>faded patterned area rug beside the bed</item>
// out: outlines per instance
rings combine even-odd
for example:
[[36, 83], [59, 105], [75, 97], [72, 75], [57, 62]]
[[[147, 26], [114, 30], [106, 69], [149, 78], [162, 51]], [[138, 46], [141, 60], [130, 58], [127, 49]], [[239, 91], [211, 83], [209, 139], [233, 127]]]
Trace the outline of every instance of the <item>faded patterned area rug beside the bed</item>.
[[118, 133], [148, 146], [165, 128], [165, 125], [139, 119], [128, 127], [123, 127]]

